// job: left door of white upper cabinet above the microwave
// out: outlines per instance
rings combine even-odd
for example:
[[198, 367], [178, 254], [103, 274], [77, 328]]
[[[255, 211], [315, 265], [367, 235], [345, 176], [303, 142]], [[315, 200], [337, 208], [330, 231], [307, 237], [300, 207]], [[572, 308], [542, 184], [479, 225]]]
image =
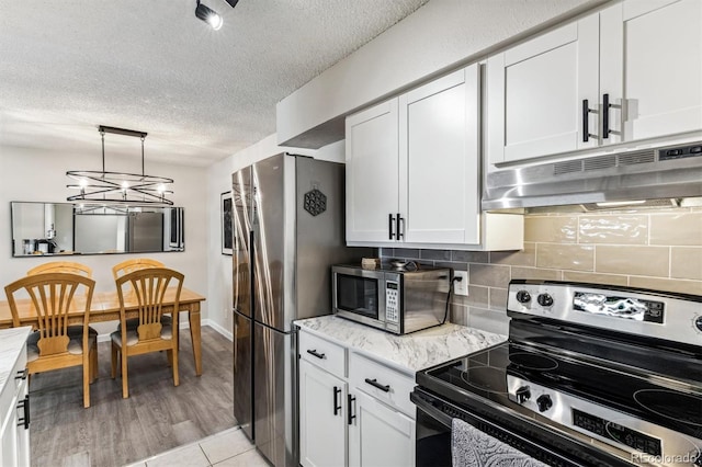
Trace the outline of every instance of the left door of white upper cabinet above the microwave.
[[397, 99], [346, 121], [347, 241], [396, 240]]

